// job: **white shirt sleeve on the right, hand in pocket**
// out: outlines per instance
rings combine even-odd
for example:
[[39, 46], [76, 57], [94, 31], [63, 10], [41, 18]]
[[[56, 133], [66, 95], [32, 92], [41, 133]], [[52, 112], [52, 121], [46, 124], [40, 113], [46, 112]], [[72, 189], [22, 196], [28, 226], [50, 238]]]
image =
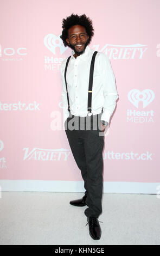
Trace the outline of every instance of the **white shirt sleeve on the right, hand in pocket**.
[[109, 123], [114, 108], [116, 107], [116, 100], [118, 99], [116, 79], [114, 77], [110, 60], [105, 53], [100, 54], [99, 65], [105, 98], [101, 120], [107, 121]]

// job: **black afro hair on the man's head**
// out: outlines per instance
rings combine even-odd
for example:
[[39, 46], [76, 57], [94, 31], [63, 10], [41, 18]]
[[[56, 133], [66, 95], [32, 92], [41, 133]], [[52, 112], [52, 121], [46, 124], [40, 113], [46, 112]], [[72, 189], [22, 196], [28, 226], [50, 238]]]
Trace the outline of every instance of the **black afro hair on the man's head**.
[[66, 19], [62, 20], [62, 34], [60, 35], [60, 38], [63, 41], [63, 44], [66, 46], [69, 46], [66, 42], [66, 39], [68, 38], [68, 29], [75, 26], [80, 25], [85, 27], [86, 33], [89, 36], [88, 44], [91, 42], [92, 36], [94, 35], [94, 29], [92, 26], [92, 20], [89, 19], [89, 17], [86, 16], [86, 14], [78, 15], [78, 14], [71, 14], [71, 16], [66, 17]]

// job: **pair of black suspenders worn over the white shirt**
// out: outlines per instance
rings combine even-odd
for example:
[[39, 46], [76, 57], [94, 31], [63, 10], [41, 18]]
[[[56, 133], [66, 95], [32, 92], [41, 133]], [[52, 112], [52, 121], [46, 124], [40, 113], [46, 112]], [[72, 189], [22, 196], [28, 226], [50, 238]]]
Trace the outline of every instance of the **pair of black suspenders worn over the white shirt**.
[[[95, 51], [92, 56], [91, 60], [91, 66], [90, 66], [90, 72], [89, 72], [89, 87], [88, 87], [88, 113], [92, 112], [92, 86], [93, 86], [93, 71], [94, 71], [94, 62], [95, 62], [95, 56], [98, 52]], [[68, 96], [68, 89], [67, 89], [67, 81], [66, 81], [66, 73], [67, 73], [67, 66], [69, 63], [69, 59], [71, 56], [68, 57], [67, 62], [66, 62], [66, 67], [65, 67], [65, 83], [66, 83], [66, 92], [67, 92], [67, 101], [68, 101], [68, 111], [70, 112], [70, 106], [69, 106], [69, 96]]]

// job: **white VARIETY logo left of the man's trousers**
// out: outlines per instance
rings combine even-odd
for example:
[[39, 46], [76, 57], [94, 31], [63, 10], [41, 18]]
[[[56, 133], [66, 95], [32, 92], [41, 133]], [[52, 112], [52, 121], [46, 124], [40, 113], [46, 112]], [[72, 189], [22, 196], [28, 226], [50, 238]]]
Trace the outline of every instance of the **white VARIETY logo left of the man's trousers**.
[[29, 152], [29, 148], [24, 148], [23, 160], [36, 160], [36, 161], [67, 161], [70, 154], [69, 149], [39, 149], [34, 148]]

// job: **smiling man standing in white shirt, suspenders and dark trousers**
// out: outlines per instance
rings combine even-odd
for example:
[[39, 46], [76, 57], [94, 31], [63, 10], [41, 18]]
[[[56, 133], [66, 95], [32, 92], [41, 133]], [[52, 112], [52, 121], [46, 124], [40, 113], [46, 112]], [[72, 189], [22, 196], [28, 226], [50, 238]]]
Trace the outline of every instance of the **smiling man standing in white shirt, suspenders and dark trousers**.
[[[95, 52], [88, 47], [94, 34], [92, 20], [85, 14], [72, 14], [63, 19], [62, 28], [60, 38], [63, 44], [74, 51], [61, 64], [65, 131], [86, 190], [84, 197], [73, 200], [70, 204], [88, 206], [85, 215], [89, 234], [94, 240], [98, 240], [101, 237], [98, 217], [102, 212], [103, 194], [104, 136], [101, 135], [104, 135], [105, 127], [116, 107], [118, 94], [110, 60], [104, 53]], [[93, 53], [96, 56], [91, 68]], [[97, 122], [98, 128], [94, 129]], [[72, 129], [73, 123], [76, 129]]]

